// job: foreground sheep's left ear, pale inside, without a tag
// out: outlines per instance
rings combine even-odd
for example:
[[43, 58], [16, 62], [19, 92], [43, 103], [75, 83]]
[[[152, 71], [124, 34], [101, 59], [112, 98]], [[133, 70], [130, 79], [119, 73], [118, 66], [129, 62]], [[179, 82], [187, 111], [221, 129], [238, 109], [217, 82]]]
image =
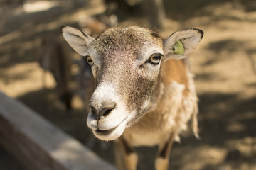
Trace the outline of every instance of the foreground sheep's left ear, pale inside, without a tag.
[[75, 52], [78, 52], [78, 54], [82, 56], [87, 54], [86, 52], [90, 42], [95, 40], [95, 38], [83, 33], [82, 30], [78, 30], [77, 28], [70, 26], [63, 26], [60, 28], [60, 31], [63, 34], [64, 39], [75, 50]]

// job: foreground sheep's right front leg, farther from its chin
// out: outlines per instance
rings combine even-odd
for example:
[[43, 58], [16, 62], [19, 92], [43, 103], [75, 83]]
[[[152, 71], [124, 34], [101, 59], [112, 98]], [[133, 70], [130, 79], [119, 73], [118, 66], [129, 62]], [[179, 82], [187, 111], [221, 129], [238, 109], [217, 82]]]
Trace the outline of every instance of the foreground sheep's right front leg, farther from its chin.
[[171, 147], [174, 144], [174, 135], [172, 133], [169, 140], [159, 145], [159, 152], [155, 161], [156, 170], [167, 170], [169, 166], [169, 155], [171, 152]]

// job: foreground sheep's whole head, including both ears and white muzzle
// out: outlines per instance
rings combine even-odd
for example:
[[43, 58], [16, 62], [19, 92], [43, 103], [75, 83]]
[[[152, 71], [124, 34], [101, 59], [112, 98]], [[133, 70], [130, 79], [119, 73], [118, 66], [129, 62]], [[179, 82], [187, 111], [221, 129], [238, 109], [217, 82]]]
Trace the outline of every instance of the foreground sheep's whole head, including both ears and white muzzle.
[[110, 28], [95, 40], [78, 29], [62, 28], [65, 40], [86, 57], [95, 77], [87, 125], [96, 137], [115, 140], [156, 107], [161, 63], [186, 57], [201, 40], [199, 30], [182, 32], [163, 44], [153, 30], [137, 26]]

